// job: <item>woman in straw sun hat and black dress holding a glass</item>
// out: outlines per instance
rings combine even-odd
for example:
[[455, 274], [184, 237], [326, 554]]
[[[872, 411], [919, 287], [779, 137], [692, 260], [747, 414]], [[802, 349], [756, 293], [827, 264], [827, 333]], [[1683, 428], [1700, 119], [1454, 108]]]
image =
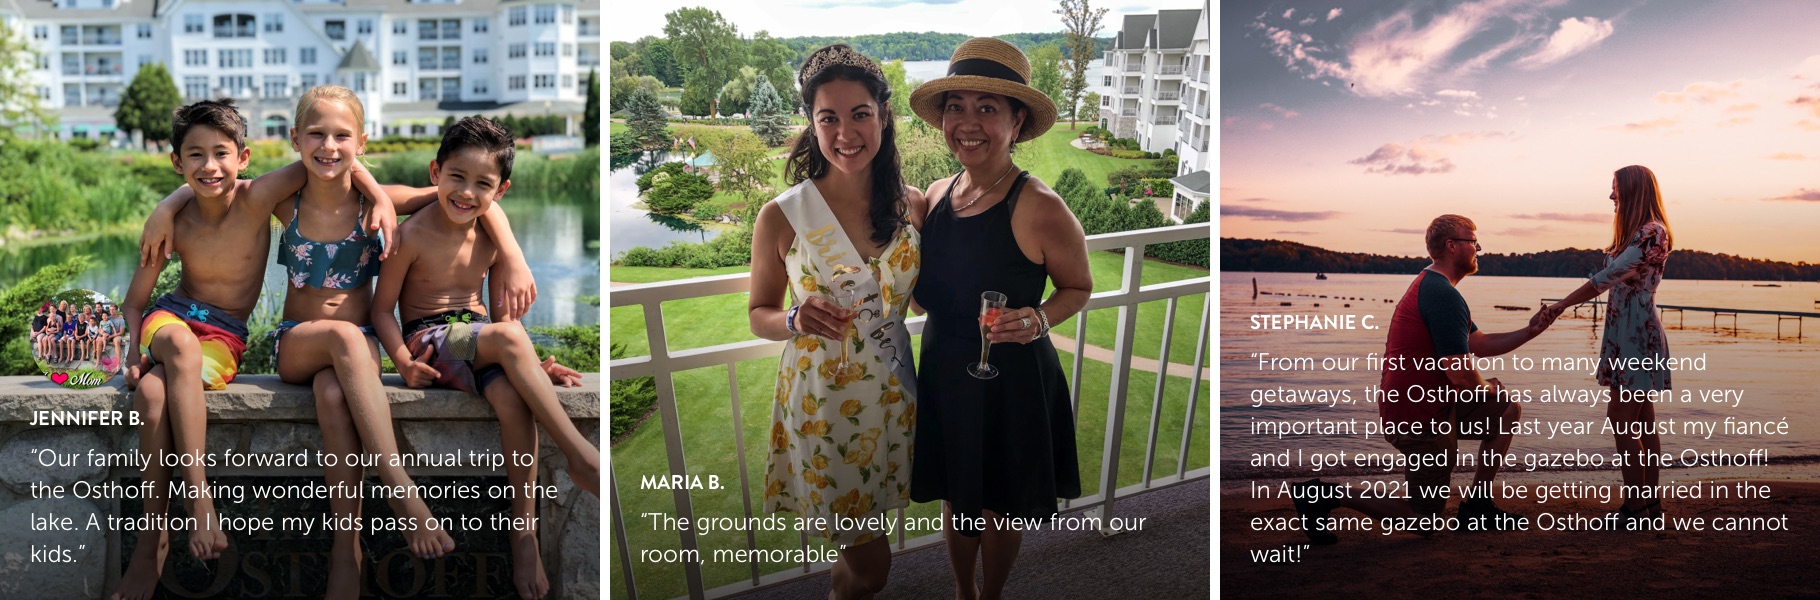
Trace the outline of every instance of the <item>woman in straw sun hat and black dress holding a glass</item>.
[[[1048, 185], [1012, 164], [1016, 142], [1056, 124], [1056, 105], [1030, 87], [1030, 62], [1017, 47], [974, 38], [954, 51], [948, 76], [923, 84], [910, 107], [941, 127], [961, 175], [928, 187], [926, 276], [915, 302], [923, 325], [921, 427], [910, 476], [915, 502], [946, 500], [943, 536], [956, 596], [999, 598], [1023, 533], [994, 518], [1046, 518], [1056, 498], [1081, 496], [1068, 382], [1048, 327], [1087, 305], [1094, 278], [1087, 235]], [[1043, 300], [1045, 284], [1056, 293]], [[997, 320], [981, 322], [981, 293], [1006, 296]], [[981, 380], [981, 325], [992, 325]], [[956, 529], [956, 520], [965, 516]], [[985, 518], [985, 527], [977, 525]], [[974, 562], [985, 585], [974, 587]]]

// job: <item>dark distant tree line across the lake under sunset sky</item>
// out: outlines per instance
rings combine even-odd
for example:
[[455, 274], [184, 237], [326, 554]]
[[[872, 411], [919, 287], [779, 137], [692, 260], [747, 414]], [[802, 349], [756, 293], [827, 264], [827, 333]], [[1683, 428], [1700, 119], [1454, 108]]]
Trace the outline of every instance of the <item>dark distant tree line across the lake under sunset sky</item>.
[[[1221, 271], [1278, 273], [1416, 273], [1427, 256], [1336, 253], [1281, 240], [1219, 238]], [[1556, 249], [1522, 255], [1480, 255], [1480, 275], [1587, 276], [1605, 265], [1596, 249]], [[1815, 282], [1820, 264], [1780, 262], [1678, 249], [1663, 275], [1673, 280]]]

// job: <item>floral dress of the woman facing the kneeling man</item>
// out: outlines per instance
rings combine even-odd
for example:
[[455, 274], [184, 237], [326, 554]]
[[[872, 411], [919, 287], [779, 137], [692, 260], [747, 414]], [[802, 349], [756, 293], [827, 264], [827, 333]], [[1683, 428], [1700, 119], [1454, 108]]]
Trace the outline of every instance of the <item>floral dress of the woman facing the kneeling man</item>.
[[1669, 336], [1656, 313], [1656, 285], [1669, 260], [1669, 229], [1660, 222], [1643, 224], [1616, 256], [1605, 256], [1605, 269], [1592, 273], [1592, 287], [1605, 298], [1605, 338], [1598, 353], [1598, 384], [1633, 391], [1669, 389], [1667, 369], [1627, 369], [1613, 358], [1667, 360]]

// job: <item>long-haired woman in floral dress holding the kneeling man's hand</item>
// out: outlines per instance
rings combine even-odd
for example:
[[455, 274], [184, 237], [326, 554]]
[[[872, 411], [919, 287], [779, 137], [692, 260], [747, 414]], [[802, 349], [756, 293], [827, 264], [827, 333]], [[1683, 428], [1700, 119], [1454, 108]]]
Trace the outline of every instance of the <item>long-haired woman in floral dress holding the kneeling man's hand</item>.
[[[1563, 309], [1611, 291], [1605, 302], [1605, 335], [1598, 351], [1598, 384], [1611, 387], [1605, 416], [1613, 424], [1631, 424], [1623, 429], [1636, 431], [1634, 427], [1656, 420], [1656, 407], [1647, 400], [1625, 402], [1620, 393], [1669, 389], [1667, 369], [1633, 369], [1625, 364], [1642, 358], [1645, 365], [1662, 365], [1669, 358], [1669, 336], [1656, 315], [1656, 285], [1662, 284], [1674, 236], [1662, 211], [1656, 175], [1647, 167], [1629, 165], [1613, 173], [1611, 202], [1616, 215], [1611, 220], [1611, 244], [1605, 245], [1605, 269], [1592, 273], [1585, 285], [1549, 305], [1545, 318], [1552, 320]], [[1660, 455], [1662, 436], [1654, 433], [1654, 425], [1647, 431], [1642, 436], [1613, 435], [1618, 453], [1625, 455], [1622, 467], [1625, 500], [1613, 516], [1622, 518], [1627, 527], [1638, 518], [1662, 516], [1662, 500], [1656, 496], [1662, 467], [1642, 465], [1638, 456], [1642, 451]]]

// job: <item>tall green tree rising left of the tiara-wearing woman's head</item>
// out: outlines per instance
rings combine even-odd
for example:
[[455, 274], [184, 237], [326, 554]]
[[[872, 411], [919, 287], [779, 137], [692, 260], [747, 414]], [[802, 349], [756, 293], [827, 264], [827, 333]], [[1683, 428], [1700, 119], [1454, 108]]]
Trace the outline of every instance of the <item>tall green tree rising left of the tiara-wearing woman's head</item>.
[[[708, 116], [719, 115], [715, 95], [746, 64], [746, 44], [739, 27], [710, 9], [677, 9], [664, 15], [664, 36], [670, 38], [677, 62], [688, 69], [682, 80], [682, 113], [692, 115], [692, 102], [708, 100]], [[690, 98], [693, 91], [693, 98]]]

